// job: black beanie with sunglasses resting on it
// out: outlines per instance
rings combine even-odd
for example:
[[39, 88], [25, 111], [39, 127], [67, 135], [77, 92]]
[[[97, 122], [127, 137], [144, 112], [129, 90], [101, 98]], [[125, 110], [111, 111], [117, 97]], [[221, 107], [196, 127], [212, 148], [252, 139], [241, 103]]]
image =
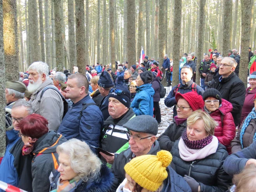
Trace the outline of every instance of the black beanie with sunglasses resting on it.
[[[122, 90], [123, 92], [121, 95], [118, 95], [114, 90]], [[117, 88], [113, 89], [112, 92], [109, 92], [109, 97], [119, 100], [125, 107], [129, 108], [131, 105], [131, 93], [129, 92], [127, 86], [118, 86]]]

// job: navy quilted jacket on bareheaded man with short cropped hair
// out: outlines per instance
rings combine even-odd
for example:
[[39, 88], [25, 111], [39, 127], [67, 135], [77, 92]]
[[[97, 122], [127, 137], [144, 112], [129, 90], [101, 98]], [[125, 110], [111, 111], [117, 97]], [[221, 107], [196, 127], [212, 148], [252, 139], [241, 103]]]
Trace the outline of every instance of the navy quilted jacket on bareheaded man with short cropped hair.
[[103, 115], [96, 105], [88, 106], [83, 110], [81, 119], [80, 111], [83, 104], [95, 103], [89, 95], [73, 104], [65, 115], [58, 132], [67, 140], [77, 138], [88, 145], [99, 147], [100, 129], [103, 126]]

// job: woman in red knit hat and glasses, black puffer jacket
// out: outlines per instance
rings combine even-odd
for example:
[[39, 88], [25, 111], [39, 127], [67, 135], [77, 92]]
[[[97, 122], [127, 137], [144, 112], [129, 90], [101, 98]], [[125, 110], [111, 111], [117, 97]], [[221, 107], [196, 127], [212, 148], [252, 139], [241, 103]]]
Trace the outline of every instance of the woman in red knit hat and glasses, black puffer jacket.
[[171, 150], [174, 142], [181, 137], [182, 132], [187, 128], [187, 118], [190, 114], [204, 108], [204, 100], [197, 92], [176, 93], [175, 99], [177, 115], [173, 118], [171, 125], [158, 138], [160, 148], [168, 151]]

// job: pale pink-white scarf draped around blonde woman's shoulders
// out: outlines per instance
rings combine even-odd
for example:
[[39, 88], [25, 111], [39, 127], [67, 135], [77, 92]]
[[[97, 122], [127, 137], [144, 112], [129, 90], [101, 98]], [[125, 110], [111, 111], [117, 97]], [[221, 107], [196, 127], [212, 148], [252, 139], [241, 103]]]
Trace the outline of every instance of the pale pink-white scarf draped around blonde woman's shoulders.
[[202, 149], [189, 149], [183, 141], [182, 138], [180, 138], [179, 141], [179, 152], [180, 152], [180, 157], [184, 161], [194, 161], [195, 159], [204, 159], [205, 157], [214, 154], [217, 149], [218, 149], [218, 138], [213, 136], [213, 140], [211, 143], [206, 145]]

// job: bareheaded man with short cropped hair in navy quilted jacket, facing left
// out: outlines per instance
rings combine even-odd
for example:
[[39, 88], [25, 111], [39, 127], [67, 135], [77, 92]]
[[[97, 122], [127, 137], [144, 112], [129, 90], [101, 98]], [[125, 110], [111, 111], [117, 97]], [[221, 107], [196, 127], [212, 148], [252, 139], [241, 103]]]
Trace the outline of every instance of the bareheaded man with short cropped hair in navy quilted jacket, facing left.
[[99, 147], [103, 115], [88, 95], [88, 89], [89, 82], [85, 75], [77, 73], [67, 78], [66, 97], [74, 104], [67, 111], [58, 132], [67, 140], [77, 138]]

